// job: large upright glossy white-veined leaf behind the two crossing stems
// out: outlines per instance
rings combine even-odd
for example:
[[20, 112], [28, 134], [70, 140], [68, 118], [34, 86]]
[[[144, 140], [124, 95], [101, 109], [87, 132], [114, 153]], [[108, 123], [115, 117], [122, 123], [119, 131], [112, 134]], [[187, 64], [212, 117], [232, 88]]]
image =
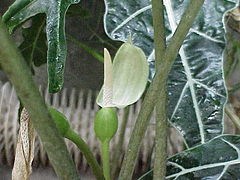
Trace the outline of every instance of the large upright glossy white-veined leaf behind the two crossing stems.
[[[206, 0], [169, 75], [169, 119], [188, 147], [222, 134], [226, 92], [222, 72], [225, 46], [222, 16], [235, 0]], [[167, 40], [189, 0], [164, 0]], [[114, 40], [133, 43], [148, 56], [154, 74], [153, 26], [149, 0], [105, 0], [105, 31]]]

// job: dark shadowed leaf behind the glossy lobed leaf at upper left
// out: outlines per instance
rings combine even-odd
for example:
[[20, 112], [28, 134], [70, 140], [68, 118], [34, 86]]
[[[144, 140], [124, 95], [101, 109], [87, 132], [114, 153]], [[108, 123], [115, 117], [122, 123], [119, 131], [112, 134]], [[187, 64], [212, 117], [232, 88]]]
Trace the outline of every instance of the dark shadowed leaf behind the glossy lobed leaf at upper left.
[[40, 66], [47, 62], [47, 37], [44, 32], [45, 16], [37, 15], [32, 18], [32, 25], [22, 28], [24, 41], [19, 46], [25, 60], [32, 66]]

